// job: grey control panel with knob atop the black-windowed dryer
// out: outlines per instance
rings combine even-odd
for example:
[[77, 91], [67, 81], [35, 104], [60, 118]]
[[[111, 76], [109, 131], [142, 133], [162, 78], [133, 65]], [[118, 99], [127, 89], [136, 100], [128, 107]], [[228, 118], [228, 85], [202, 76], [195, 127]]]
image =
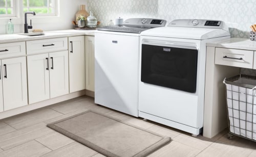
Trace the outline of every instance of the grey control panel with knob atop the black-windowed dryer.
[[218, 28], [223, 29], [224, 22], [205, 19], [177, 19], [168, 24], [169, 27]]

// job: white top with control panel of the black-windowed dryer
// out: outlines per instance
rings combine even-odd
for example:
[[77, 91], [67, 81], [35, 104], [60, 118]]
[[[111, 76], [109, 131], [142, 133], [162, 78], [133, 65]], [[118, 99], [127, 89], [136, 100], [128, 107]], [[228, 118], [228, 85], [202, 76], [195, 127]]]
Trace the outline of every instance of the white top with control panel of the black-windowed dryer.
[[223, 21], [179, 19], [167, 27], [146, 30], [141, 36], [205, 40], [230, 36]]

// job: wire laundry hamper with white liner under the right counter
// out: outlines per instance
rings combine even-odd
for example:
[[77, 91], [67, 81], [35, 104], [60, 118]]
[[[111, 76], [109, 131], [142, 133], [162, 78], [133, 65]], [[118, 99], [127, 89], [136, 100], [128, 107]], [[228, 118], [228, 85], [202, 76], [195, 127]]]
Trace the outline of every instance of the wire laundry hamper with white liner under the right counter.
[[256, 77], [239, 74], [224, 79], [229, 134], [256, 141]]

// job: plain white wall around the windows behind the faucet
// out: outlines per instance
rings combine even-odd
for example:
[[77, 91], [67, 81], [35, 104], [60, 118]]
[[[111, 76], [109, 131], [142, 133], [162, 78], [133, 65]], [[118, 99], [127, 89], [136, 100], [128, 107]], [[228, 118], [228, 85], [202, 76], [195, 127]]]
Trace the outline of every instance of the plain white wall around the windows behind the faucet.
[[[32, 19], [33, 29], [44, 31], [72, 29], [72, 21], [75, 20], [75, 13], [79, 10], [81, 4], [86, 5], [84, 0], [59, 0], [59, 16], [39, 17], [28, 14], [28, 23]], [[20, 5], [22, 1], [18, 1]], [[6, 34], [6, 24], [9, 18], [0, 19], [0, 34]], [[13, 18], [14, 33], [24, 32], [24, 14], [20, 13], [18, 17]], [[33, 29], [30, 29], [31, 32]]]

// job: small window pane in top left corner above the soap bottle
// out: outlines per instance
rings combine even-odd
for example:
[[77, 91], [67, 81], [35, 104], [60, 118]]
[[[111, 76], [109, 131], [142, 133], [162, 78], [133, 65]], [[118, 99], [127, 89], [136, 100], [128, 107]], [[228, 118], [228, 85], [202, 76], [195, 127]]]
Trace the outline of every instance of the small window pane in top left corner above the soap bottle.
[[15, 0], [0, 0], [0, 17], [16, 16]]

